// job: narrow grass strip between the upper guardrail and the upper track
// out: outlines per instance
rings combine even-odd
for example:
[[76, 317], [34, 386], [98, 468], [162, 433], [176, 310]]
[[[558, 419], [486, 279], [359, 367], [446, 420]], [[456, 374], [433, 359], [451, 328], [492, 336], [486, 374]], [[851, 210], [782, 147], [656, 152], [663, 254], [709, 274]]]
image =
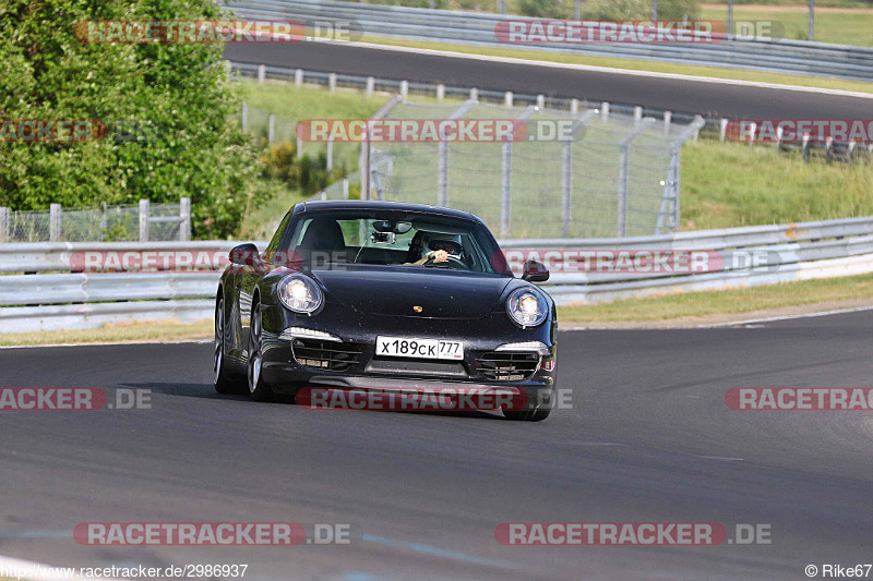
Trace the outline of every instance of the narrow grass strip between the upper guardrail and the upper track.
[[[402, 38], [387, 38], [372, 35], [364, 35], [364, 43], [376, 45], [387, 45], [397, 47], [426, 48], [433, 50], [450, 50], [465, 55], [485, 55], [489, 57], [504, 57], [514, 59], [538, 60], [548, 62], [559, 62], [567, 64], [586, 64], [591, 66], [607, 66], [612, 69], [624, 69], [629, 71], [647, 71], [655, 73], [684, 74], [694, 76], [707, 76], [713, 78], [728, 78], [732, 81], [752, 81], [757, 83], [776, 83], [780, 85], [794, 85], [802, 87], [817, 87], [839, 90], [851, 90], [857, 93], [873, 94], [873, 83], [861, 81], [844, 81], [840, 78], [828, 78], [824, 76], [804, 76], [782, 73], [765, 73], [757, 71], [745, 71], [741, 69], [727, 69], [720, 66], [702, 66], [696, 64], [677, 64], [660, 61], [644, 61], [619, 59], [613, 57], [583, 57], [567, 55], [564, 52], [549, 52], [547, 50], [529, 50], [519, 48], [494, 48], [470, 45], [455, 45], [450, 43], [433, 43], [406, 40]], [[585, 97], [585, 95], [579, 95]]]

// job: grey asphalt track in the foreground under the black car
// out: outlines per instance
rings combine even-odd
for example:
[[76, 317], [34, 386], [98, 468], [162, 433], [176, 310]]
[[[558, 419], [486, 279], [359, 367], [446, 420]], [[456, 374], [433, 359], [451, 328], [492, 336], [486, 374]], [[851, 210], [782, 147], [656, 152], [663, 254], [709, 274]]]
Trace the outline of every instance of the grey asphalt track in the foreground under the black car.
[[[731, 411], [731, 387], [871, 385], [873, 312], [566, 331], [573, 408], [307, 411], [219, 397], [211, 344], [0, 350], [0, 387], [152, 390], [152, 409], [0, 412], [0, 555], [248, 564], [247, 579], [806, 579], [873, 560], [873, 416]], [[80, 522], [349, 523], [347, 546], [91, 547]], [[503, 522], [769, 524], [772, 544], [513, 547]]]

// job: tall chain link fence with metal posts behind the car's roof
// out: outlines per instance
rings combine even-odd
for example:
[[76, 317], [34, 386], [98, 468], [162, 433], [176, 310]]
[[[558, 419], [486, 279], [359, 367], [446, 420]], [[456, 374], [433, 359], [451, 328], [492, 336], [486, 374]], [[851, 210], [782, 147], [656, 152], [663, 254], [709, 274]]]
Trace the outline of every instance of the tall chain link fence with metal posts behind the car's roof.
[[[513, 239], [677, 231], [680, 148], [704, 124], [701, 118], [675, 124], [608, 109], [567, 112], [471, 100], [403, 101], [385, 117], [450, 118], [513, 120], [524, 123], [526, 137], [371, 143], [370, 197], [467, 210], [500, 238]], [[570, 128], [569, 136], [557, 137], [555, 126]], [[323, 197], [336, 194], [332, 189]]]

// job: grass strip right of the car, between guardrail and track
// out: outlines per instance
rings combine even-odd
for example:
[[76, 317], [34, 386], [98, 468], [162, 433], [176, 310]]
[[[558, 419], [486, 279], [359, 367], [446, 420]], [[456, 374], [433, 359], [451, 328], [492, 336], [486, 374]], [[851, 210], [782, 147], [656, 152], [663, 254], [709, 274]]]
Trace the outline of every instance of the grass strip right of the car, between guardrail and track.
[[822, 305], [824, 308], [833, 308], [849, 301], [870, 301], [873, 304], [873, 275], [562, 306], [558, 307], [558, 320], [594, 324], [658, 322], [765, 313], [799, 305]]

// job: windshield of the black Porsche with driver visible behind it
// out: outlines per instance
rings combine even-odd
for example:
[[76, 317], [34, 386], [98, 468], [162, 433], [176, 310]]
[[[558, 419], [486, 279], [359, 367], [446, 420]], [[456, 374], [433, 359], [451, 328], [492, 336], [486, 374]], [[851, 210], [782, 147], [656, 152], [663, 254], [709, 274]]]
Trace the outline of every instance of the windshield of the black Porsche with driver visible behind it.
[[369, 264], [510, 274], [488, 230], [474, 220], [417, 211], [304, 214], [285, 238], [289, 256], [313, 264]]

